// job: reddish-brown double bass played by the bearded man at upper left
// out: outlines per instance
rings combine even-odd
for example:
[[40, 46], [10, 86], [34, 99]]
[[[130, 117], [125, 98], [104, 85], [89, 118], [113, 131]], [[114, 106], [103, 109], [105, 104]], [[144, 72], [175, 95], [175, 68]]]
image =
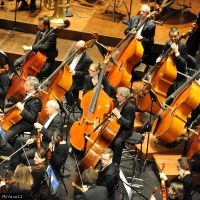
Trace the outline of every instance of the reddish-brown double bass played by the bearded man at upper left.
[[[63, 26], [52, 28], [41, 40], [39, 40], [36, 45], [42, 44], [47, 37], [55, 30], [69, 27], [70, 22], [65, 21]], [[34, 53], [32, 50], [27, 51], [21, 58], [14, 62], [14, 67], [17, 68], [23, 63], [19, 68], [18, 74], [14, 74], [11, 80], [10, 88], [7, 92], [6, 98], [13, 103], [21, 101], [24, 94], [24, 83], [28, 76], [36, 76], [46, 62], [46, 55], [41, 52]]]

